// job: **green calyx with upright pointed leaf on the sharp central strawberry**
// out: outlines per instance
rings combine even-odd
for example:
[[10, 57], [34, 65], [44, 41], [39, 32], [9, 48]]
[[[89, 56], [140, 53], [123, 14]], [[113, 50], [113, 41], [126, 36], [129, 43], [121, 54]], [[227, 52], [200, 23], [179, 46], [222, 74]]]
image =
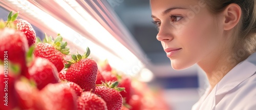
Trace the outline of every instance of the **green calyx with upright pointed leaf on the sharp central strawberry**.
[[91, 51], [90, 49], [87, 47], [86, 52], [83, 53], [83, 55], [80, 55], [78, 52], [77, 54], [72, 54], [71, 60], [66, 60], [68, 63], [65, 64], [65, 68], [70, 68], [70, 66], [74, 63], [77, 63], [78, 61], [80, 61], [81, 59], [86, 59], [88, 58], [88, 56], [90, 55]]

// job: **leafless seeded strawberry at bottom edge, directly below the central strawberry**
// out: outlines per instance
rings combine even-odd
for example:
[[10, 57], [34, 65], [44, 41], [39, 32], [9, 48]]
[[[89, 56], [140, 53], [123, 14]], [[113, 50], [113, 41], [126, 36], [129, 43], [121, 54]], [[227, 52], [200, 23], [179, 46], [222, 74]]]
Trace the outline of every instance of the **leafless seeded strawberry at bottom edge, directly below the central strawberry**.
[[97, 109], [107, 110], [106, 102], [96, 94], [91, 92], [83, 92], [81, 97], [77, 99], [78, 110], [82, 109]]

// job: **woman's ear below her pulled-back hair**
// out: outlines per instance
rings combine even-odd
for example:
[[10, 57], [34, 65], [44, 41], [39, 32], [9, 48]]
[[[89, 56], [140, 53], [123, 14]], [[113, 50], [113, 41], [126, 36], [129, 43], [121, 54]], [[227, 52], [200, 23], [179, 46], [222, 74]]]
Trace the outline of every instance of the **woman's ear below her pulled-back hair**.
[[242, 11], [239, 5], [230, 4], [223, 11], [224, 14], [224, 30], [234, 28], [240, 21]]

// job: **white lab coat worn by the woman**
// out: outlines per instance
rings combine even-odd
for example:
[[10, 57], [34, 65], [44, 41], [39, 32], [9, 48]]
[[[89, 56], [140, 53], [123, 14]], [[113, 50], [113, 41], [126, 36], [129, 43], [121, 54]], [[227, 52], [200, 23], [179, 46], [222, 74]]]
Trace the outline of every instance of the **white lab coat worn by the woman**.
[[229, 71], [212, 91], [207, 90], [193, 110], [256, 110], [256, 53]]

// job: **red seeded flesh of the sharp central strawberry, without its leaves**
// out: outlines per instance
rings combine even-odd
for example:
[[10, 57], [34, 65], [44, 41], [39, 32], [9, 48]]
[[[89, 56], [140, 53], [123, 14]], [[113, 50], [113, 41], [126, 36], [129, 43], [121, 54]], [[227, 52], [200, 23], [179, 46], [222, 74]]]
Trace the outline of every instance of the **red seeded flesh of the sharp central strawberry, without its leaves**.
[[89, 58], [81, 59], [67, 70], [68, 81], [77, 83], [84, 91], [95, 91], [97, 63]]

